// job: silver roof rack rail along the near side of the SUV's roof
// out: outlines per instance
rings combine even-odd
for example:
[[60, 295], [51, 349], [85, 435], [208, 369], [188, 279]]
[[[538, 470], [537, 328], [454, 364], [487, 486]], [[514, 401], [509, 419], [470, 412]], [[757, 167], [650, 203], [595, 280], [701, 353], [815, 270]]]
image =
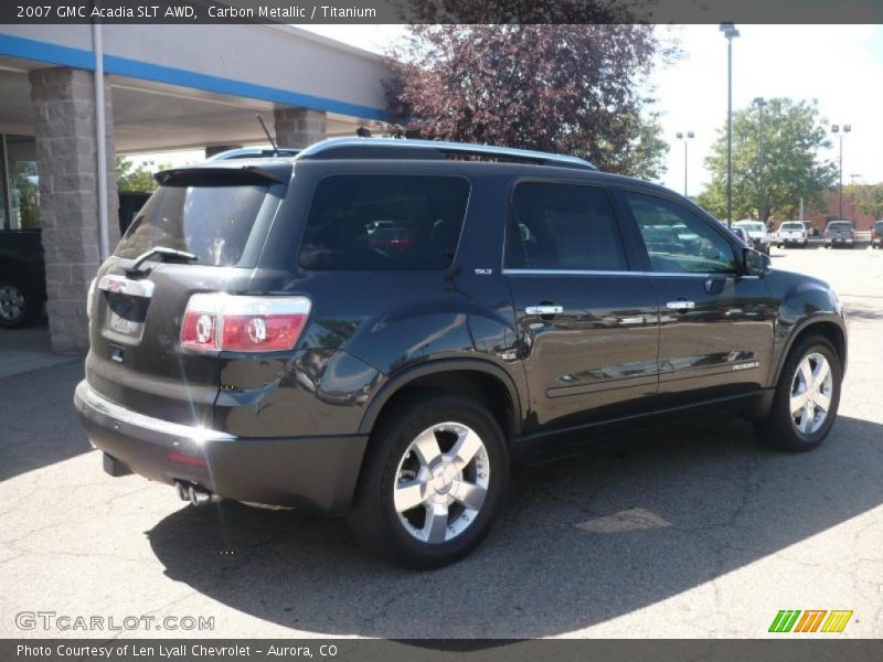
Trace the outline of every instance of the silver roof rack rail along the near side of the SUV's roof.
[[316, 142], [297, 157], [308, 159], [476, 159], [536, 166], [597, 170], [585, 159], [489, 145], [411, 140], [402, 138], [330, 138]]

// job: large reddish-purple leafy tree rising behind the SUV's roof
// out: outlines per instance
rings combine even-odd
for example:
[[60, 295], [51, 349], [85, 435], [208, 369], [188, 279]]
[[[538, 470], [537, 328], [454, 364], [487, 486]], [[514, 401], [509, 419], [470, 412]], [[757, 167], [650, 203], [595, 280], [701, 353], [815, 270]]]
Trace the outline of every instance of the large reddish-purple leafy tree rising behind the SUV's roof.
[[392, 53], [387, 102], [407, 135], [574, 154], [653, 179], [668, 146], [641, 84], [661, 50], [640, 24], [412, 25]]

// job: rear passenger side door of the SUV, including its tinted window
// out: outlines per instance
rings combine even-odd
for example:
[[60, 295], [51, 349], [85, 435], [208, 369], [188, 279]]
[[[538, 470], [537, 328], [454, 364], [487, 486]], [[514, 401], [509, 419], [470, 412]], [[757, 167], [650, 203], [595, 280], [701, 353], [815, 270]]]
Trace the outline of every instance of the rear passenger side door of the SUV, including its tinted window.
[[522, 181], [504, 275], [533, 429], [640, 412], [657, 391], [657, 307], [602, 186]]

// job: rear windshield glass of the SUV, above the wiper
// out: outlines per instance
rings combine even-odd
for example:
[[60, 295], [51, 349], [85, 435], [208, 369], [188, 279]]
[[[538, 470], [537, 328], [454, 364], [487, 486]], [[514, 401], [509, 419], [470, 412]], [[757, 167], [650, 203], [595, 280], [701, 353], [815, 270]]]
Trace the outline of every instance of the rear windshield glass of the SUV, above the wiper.
[[160, 186], [135, 217], [115, 255], [135, 258], [166, 246], [194, 254], [199, 265], [236, 266], [267, 189]]

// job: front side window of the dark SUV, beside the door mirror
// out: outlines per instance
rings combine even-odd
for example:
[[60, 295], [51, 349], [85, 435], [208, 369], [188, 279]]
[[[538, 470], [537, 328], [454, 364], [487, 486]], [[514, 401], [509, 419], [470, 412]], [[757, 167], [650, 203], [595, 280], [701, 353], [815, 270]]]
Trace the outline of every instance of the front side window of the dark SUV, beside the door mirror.
[[704, 220], [652, 195], [624, 192], [653, 271], [732, 274], [735, 256], [730, 243]]

